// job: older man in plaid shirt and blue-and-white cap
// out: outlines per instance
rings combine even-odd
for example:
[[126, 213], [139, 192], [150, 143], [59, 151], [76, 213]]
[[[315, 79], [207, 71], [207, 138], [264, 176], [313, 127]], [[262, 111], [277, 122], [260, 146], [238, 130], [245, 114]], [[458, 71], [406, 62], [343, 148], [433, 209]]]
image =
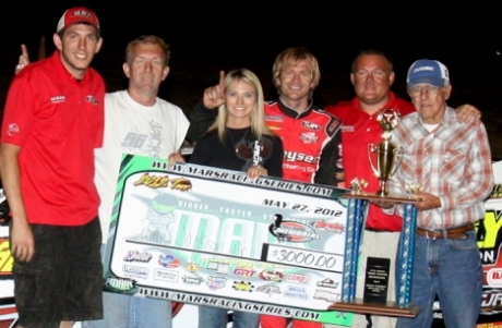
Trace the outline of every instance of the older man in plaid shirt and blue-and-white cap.
[[[397, 327], [430, 327], [435, 294], [447, 327], [476, 327], [482, 270], [474, 223], [483, 218], [483, 199], [493, 187], [487, 133], [480, 121], [459, 123], [447, 107], [452, 86], [439, 61], [416, 61], [407, 89], [417, 112], [393, 131], [404, 156], [391, 192], [421, 186], [413, 195], [418, 228], [411, 290], [411, 303], [421, 311], [416, 318], [399, 318]], [[395, 209], [403, 215], [402, 205]]]

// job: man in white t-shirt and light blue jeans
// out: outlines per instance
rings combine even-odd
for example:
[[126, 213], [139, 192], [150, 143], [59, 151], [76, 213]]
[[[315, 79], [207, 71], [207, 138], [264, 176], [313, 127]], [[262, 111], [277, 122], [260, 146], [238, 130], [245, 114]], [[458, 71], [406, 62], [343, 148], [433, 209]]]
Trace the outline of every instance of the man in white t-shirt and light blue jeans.
[[[103, 243], [108, 236], [122, 154], [176, 158], [183, 143], [189, 126], [184, 113], [157, 97], [160, 83], [169, 74], [169, 46], [157, 36], [130, 41], [122, 65], [128, 89], [105, 96], [105, 137], [103, 148], [95, 151]], [[83, 323], [84, 328], [172, 326], [170, 302], [107, 292], [103, 302], [105, 318]]]

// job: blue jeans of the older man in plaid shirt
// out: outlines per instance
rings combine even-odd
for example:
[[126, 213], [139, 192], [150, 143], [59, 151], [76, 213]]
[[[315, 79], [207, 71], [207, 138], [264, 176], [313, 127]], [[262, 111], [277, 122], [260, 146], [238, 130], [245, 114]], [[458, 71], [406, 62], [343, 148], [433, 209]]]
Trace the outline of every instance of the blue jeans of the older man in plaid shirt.
[[473, 328], [479, 316], [482, 268], [474, 231], [466, 239], [428, 240], [417, 235], [411, 303], [416, 318], [398, 318], [397, 328], [430, 328], [438, 293], [446, 327]]

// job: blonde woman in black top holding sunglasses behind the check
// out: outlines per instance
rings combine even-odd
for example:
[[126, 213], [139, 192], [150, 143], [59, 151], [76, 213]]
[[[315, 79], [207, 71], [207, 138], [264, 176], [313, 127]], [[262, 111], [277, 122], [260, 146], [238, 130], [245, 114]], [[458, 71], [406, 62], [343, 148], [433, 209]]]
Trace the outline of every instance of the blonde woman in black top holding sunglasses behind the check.
[[[283, 177], [283, 144], [265, 125], [263, 90], [251, 71], [235, 70], [222, 74], [217, 86], [204, 93], [207, 100], [212, 90], [219, 88], [218, 118], [202, 136], [190, 157], [191, 163], [247, 172], [255, 179], [261, 175]], [[198, 106], [204, 106], [203, 102]], [[227, 327], [227, 309], [200, 306], [200, 328]], [[234, 328], [258, 328], [260, 315], [234, 312]]]

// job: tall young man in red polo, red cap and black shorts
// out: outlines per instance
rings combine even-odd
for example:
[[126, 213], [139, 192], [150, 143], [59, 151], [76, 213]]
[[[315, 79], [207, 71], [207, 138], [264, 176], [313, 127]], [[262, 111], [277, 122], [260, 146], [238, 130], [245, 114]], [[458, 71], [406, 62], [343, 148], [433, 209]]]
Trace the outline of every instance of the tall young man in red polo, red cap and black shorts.
[[64, 12], [57, 50], [12, 82], [1, 178], [12, 212], [17, 327], [71, 327], [103, 317], [101, 232], [94, 149], [103, 144], [105, 84], [89, 68], [101, 47], [94, 12]]

